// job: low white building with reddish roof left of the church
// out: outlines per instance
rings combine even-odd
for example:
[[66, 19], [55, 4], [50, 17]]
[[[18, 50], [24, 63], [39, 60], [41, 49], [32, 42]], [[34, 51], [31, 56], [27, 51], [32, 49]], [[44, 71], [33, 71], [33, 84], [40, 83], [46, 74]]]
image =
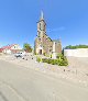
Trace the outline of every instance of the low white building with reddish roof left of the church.
[[3, 54], [13, 54], [21, 50], [22, 48], [18, 44], [7, 45], [0, 48], [0, 53], [3, 53]]

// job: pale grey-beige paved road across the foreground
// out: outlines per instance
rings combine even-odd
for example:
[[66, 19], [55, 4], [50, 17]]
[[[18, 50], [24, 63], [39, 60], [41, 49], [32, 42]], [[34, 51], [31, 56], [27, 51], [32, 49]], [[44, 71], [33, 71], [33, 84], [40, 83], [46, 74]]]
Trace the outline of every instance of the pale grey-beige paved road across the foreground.
[[0, 60], [0, 101], [88, 101], [88, 88]]

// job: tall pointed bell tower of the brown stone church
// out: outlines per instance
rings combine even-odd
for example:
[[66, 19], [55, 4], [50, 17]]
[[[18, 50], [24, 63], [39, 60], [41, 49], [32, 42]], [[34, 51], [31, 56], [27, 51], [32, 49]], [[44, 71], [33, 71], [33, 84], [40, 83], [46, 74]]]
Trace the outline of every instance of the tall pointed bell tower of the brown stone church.
[[35, 53], [36, 54], [44, 54], [44, 36], [46, 33], [46, 23], [44, 21], [43, 11], [41, 11], [41, 18], [37, 22], [37, 37], [35, 40]]

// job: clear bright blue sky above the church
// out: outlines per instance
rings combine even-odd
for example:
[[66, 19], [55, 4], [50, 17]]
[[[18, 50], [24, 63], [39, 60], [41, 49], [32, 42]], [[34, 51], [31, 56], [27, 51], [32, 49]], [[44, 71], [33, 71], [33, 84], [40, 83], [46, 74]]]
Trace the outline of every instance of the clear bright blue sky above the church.
[[67, 45], [88, 45], [88, 0], [0, 0], [0, 47], [34, 46], [36, 23], [44, 12], [46, 33]]

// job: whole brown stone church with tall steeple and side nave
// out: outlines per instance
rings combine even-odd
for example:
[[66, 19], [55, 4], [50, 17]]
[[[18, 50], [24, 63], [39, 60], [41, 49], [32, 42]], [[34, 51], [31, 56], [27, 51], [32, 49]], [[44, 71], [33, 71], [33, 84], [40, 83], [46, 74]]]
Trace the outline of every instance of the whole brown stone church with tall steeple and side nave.
[[34, 42], [34, 53], [37, 55], [56, 55], [62, 53], [61, 41], [52, 40], [46, 34], [46, 23], [43, 12], [41, 12], [41, 18], [37, 22], [37, 35]]

